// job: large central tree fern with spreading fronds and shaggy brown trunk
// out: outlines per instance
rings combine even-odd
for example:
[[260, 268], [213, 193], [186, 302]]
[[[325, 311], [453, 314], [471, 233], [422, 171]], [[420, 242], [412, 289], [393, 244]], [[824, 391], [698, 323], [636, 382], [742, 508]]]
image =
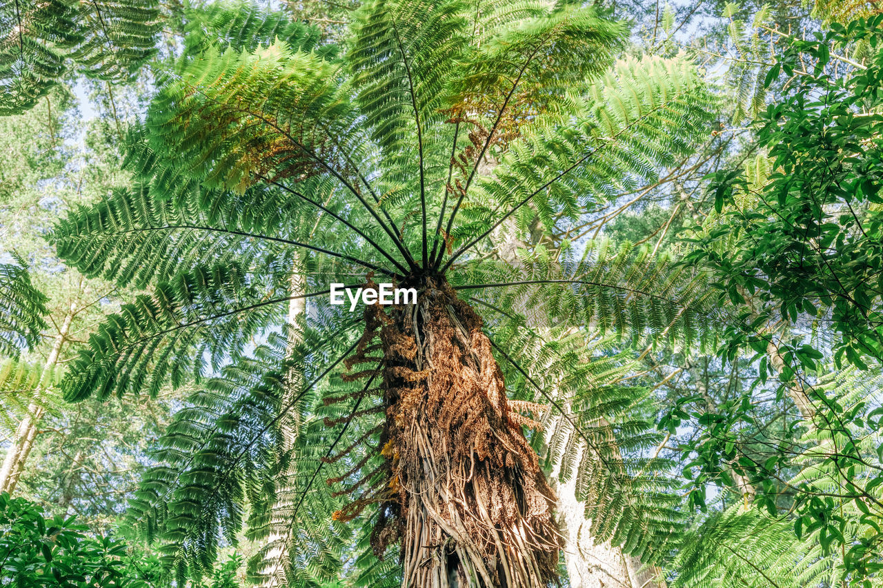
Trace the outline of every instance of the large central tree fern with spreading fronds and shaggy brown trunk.
[[[581, 391], [585, 366], [570, 361], [570, 335], [558, 324], [565, 313], [586, 332], [619, 333], [626, 346], [704, 341], [698, 331], [708, 329], [696, 321], [708, 309], [692, 276], [659, 279], [665, 260], [630, 263], [623, 252], [577, 262], [570, 251], [549, 252], [525, 261], [540, 276], [528, 284], [525, 268], [484, 263], [472, 245], [526, 205], [544, 219], [552, 209], [575, 219], [586, 210], [570, 203], [585, 191], [651, 176], [670, 161], [666, 148], [682, 148], [654, 129], [672, 117], [698, 127], [704, 90], [675, 80], [677, 68], [642, 77], [642, 65], [623, 66], [630, 83], [672, 90], [662, 98], [642, 90], [634, 108], [653, 103], [638, 117], [605, 107], [617, 129], [605, 136], [600, 104], [577, 88], [610, 64], [623, 26], [589, 8], [371, 2], [354, 16], [343, 57], [279, 19], [214, 10], [192, 29], [205, 38], [166, 72], [132, 133], [127, 166], [140, 186], [76, 211], [53, 236], [87, 275], [151, 289], [72, 363], [68, 398], [155, 392], [185, 371], [207, 376], [163, 441], [132, 515], [192, 577], [245, 524], [268, 541], [251, 571], [275, 582], [332, 577], [352, 541], [370, 545], [359, 560], [366, 569], [386, 569], [373, 558], [397, 552], [404, 584], [553, 582], [551, 491], [522, 428], [525, 404], [509, 402], [501, 371], [520, 377], [502, 361], [517, 320], [509, 330], [482, 320], [477, 311], [490, 311], [466, 292], [511, 293], [515, 313], [527, 309], [524, 286], [554, 294], [549, 316], [564, 343], [542, 354]], [[295, 32], [291, 43], [239, 50], [230, 39], [245, 29]], [[592, 167], [626, 137], [628, 147]], [[305, 283], [297, 296], [308, 305], [303, 341], [290, 347], [281, 331], [296, 257]], [[419, 290], [418, 304], [350, 314], [328, 299], [329, 283], [381, 281]], [[603, 362], [594, 365], [603, 372]], [[291, 373], [302, 374], [303, 388], [286, 391]], [[591, 409], [634, 402], [614, 395]], [[288, 449], [280, 427], [295, 413]], [[588, 436], [586, 419], [570, 433]], [[630, 452], [651, 441], [642, 427], [614, 418], [592, 434], [608, 444], [618, 434]], [[638, 472], [592, 468], [586, 494], [617, 474], [621, 484], [650, 487]], [[657, 529], [646, 540], [638, 530], [653, 524], [625, 521], [633, 515], [605, 506], [598, 529], [638, 553], [658, 549]], [[351, 521], [370, 527], [367, 536], [354, 539]], [[274, 553], [279, 561], [268, 562]]]

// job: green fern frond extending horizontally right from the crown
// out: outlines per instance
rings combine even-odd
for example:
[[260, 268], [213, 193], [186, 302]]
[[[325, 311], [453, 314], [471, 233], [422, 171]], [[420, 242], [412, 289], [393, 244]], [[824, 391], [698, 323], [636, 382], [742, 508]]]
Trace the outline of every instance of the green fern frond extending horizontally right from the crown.
[[611, 250], [603, 239], [587, 243], [583, 258], [544, 260], [540, 249], [517, 267], [464, 264], [452, 283], [471, 296], [490, 296], [497, 308], [542, 309], [547, 320], [579, 325], [587, 337], [614, 336], [639, 349], [713, 348], [721, 320], [706, 276], [651, 257], [646, 247]]

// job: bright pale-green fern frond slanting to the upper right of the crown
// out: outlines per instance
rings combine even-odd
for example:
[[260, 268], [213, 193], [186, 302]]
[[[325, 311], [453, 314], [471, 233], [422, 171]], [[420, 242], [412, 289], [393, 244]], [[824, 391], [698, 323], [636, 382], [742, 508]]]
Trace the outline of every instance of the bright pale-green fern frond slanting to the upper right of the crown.
[[452, 231], [455, 242], [467, 244], [461, 251], [504, 214], [519, 231], [537, 216], [551, 227], [652, 184], [704, 136], [713, 104], [684, 57], [623, 60], [574, 101], [567, 120], [525, 133], [481, 179], [465, 205], [471, 222]]

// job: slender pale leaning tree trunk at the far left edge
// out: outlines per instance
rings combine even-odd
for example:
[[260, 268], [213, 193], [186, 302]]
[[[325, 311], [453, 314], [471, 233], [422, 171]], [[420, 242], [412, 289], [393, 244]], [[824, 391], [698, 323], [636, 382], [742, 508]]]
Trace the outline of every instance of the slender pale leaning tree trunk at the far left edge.
[[[43, 371], [40, 376], [40, 383], [34, 391], [34, 395], [39, 395], [44, 386], [46, 378], [51, 377], [51, 373], [55, 371], [58, 364], [58, 356], [61, 354], [62, 347], [67, 340], [68, 331], [71, 329], [71, 321], [76, 313], [76, 305], [71, 305], [71, 310], [64, 317], [64, 322], [58, 330], [55, 342], [52, 343], [52, 350], [49, 351], [49, 357], [43, 365]], [[12, 438], [12, 445], [4, 457], [3, 468], [0, 468], [0, 492], [15, 492], [15, 486], [19, 483], [21, 472], [24, 471], [27, 456], [30, 455], [31, 449], [34, 447], [34, 437], [37, 434], [37, 425], [43, 416], [43, 407], [38, 403], [30, 403], [27, 406], [27, 414], [19, 422], [16, 427], [15, 435]]]

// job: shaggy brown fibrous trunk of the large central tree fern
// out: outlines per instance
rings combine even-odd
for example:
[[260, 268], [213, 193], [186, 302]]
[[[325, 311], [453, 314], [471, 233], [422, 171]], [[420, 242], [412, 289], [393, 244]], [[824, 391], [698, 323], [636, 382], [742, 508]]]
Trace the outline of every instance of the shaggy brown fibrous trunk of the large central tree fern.
[[348, 362], [382, 352], [386, 487], [372, 546], [382, 556], [400, 545], [403, 586], [521, 588], [558, 576], [555, 495], [481, 326], [430, 279], [416, 305], [366, 306]]

